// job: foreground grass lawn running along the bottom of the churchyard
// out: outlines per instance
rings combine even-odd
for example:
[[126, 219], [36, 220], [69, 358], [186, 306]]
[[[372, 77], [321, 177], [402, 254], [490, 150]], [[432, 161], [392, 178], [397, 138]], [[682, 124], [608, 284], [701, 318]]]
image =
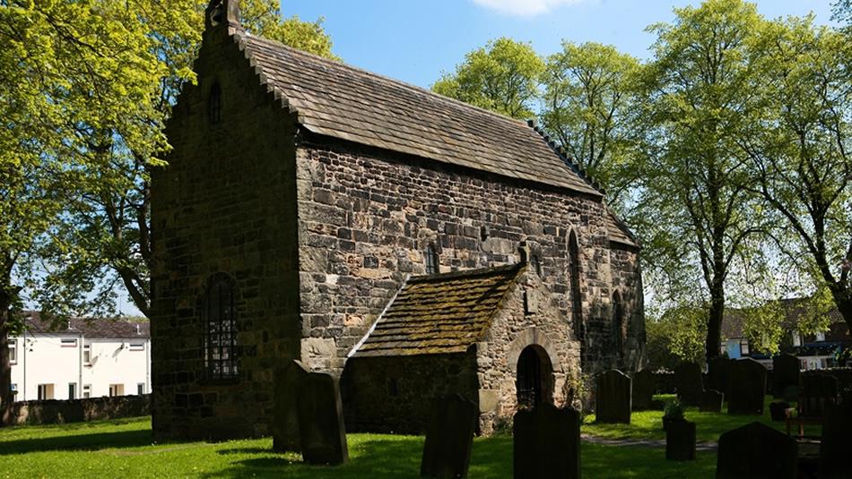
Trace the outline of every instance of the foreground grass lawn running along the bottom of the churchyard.
[[[348, 435], [345, 466], [306, 466], [299, 455], [271, 452], [271, 439], [219, 443], [151, 443], [148, 417], [122, 421], [0, 430], [0, 477], [418, 477], [423, 438]], [[583, 476], [712, 477], [716, 455], [695, 462], [665, 460], [663, 449], [583, 443]], [[512, 477], [512, 440], [477, 438], [469, 477]]]

